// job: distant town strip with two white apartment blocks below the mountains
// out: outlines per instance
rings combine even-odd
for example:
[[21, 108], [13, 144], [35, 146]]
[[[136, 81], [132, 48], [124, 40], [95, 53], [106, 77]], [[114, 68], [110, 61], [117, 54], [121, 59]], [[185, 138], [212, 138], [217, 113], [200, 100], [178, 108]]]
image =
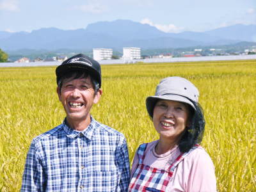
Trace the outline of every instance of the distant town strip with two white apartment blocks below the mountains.
[[[145, 51], [147, 52], [147, 51]], [[153, 52], [153, 51], [152, 51]], [[117, 54], [113, 53], [113, 49], [107, 48], [94, 48], [92, 53], [89, 53], [89, 56], [92, 56], [94, 60], [102, 61], [102, 60], [140, 60], [147, 58], [173, 58], [173, 57], [198, 57], [198, 56], [229, 56], [229, 55], [248, 55], [248, 54], [256, 54], [256, 46], [251, 46], [250, 49], [244, 49], [243, 51], [227, 51], [226, 49], [220, 48], [205, 48], [205, 49], [193, 49], [193, 50], [179, 50], [179, 51], [155, 51], [157, 54], [147, 55], [141, 54], [140, 47], [124, 47], [123, 52], [120, 55], [120, 52]], [[62, 54], [58, 56], [44, 56], [45, 58], [36, 57], [21, 57], [15, 61], [10, 60], [14, 63], [29, 63], [36, 61], [64, 61], [67, 60], [68, 56], [71, 53]], [[91, 54], [91, 55], [90, 55]], [[16, 56], [17, 57], [17, 56]]]

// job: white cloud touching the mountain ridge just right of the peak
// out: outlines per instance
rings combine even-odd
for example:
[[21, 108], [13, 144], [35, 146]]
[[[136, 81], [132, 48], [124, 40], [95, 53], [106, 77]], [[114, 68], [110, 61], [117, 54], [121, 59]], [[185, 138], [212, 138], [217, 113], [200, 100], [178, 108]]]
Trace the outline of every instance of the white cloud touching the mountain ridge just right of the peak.
[[148, 18], [142, 19], [141, 20], [142, 24], [149, 24], [150, 26], [154, 26], [157, 29], [159, 29], [160, 31], [164, 31], [166, 33], [179, 33], [180, 31], [183, 31], [184, 28], [179, 28], [173, 24], [154, 24], [151, 20], [149, 20]]

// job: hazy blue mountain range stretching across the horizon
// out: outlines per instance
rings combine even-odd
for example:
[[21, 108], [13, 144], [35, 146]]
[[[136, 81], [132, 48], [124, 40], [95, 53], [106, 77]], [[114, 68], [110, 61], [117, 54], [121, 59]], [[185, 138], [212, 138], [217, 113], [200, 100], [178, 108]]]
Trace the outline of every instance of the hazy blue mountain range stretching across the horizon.
[[85, 29], [62, 30], [42, 28], [29, 32], [0, 31], [0, 48], [19, 49], [82, 49], [141, 47], [164, 49], [196, 46], [231, 45], [256, 42], [256, 25], [236, 24], [205, 32], [184, 31], [164, 33], [154, 26], [131, 20], [102, 21], [88, 24]]

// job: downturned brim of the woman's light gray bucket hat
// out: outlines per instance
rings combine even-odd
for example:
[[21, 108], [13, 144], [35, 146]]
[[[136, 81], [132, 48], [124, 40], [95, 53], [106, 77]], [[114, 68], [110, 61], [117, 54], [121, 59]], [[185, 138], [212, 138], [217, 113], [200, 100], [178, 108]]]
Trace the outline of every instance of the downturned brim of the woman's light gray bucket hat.
[[166, 94], [166, 95], [160, 95], [160, 96], [150, 96], [150, 97], [147, 97], [146, 99], [146, 107], [147, 107], [148, 115], [151, 118], [153, 118], [153, 110], [157, 100], [159, 99], [184, 102], [186, 104], [189, 104], [189, 106], [191, 106], [196, 111], [194, 104], [187, 97], [183, 97], [181, 95]]

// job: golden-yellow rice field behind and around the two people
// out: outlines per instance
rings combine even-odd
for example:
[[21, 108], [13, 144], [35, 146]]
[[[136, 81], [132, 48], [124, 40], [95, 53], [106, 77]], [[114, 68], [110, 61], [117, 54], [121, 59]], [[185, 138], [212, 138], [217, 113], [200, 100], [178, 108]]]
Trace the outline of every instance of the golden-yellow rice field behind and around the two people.
[[[0, 191], [19, 191], [32, 138], [65, 118], [55, 68], [0, 68]], [[185, 77], [200, 90], [202, 146], [218, 191], [256, 191], [256, 60], [102, 65], [103, 95], [93, 117], [124, 133], [132, 161], [140, 143], [158, 138], [145, 98], [167, 76]]]

